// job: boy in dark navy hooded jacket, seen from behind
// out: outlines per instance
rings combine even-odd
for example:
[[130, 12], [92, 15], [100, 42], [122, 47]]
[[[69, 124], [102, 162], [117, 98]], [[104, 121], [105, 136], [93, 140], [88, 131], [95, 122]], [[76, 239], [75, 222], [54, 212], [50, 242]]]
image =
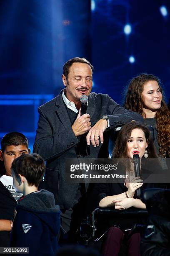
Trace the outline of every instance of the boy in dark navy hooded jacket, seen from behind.
[[54, 196], [37, 189], [45, 173], [38, 154], [25, 154], [12, 164], [13, 184], [23, 193], [17, 205], [11, 246], [29, 247], [31, 256], [55, 255], [60, 228], [60, 209]]

